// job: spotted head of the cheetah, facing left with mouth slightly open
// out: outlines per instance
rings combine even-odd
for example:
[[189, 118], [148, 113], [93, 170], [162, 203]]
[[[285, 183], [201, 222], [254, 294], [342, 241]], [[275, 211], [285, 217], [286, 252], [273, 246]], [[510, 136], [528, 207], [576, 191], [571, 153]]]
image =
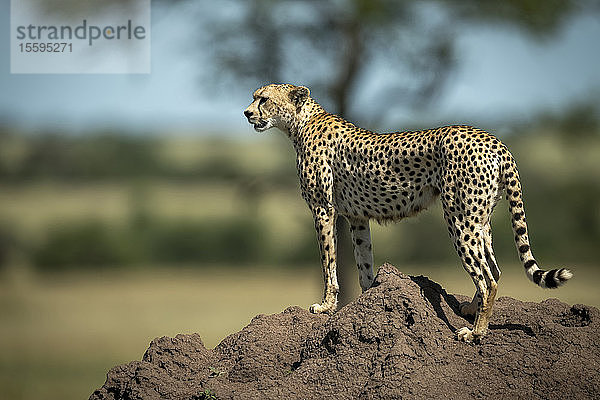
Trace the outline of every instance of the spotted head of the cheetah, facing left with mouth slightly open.
[[254, 92], [254, 101], [244, 115], [257, 132], [270, 128], [288, 130], [310, 96], [304, 86], [272, 84]]

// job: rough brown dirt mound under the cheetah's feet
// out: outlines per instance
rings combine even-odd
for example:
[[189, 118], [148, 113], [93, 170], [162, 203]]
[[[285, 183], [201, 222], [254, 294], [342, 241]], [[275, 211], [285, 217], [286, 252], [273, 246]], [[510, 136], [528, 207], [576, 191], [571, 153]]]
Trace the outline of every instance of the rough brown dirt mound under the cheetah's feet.
[[558, 300], [498, 299], [481, 344], [431, 280], [386, 264], [331, 317], [259, 315], [215, 349], [198, 335], [155, 339], [108, 372], [92, 400], [599, 398], [600, 312]]

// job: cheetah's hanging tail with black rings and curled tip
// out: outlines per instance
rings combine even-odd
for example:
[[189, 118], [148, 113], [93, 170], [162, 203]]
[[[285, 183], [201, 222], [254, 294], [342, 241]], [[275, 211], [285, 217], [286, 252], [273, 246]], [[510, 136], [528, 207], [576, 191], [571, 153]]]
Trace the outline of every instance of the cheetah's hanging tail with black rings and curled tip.
[[525, 267], [527, 277], [530, 281], [542, 288], [557, 288], [571, 279], [573, 274], [566, 268], [545, 271], [538, 267], [537, 261], [533, 258], [531, 247], [529, 245], [521, 181], [519, 179], [517, 165], [512, 156], [509, 156], [509, 160], [507, 160], [502, 169], [504, 186], [506, 188], [506, 200], [508, 201], [508, 209], [512, 216], [515, 244], [517, 245], [519, 258]]

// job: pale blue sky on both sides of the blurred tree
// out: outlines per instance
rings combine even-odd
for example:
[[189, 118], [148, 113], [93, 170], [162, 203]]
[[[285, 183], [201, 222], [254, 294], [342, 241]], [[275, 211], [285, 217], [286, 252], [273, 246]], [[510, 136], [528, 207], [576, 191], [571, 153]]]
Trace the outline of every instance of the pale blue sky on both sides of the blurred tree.
[[[194, 30], [188, 13], [153, 9], [151, 74], [17, 75], [10, 74], [9, 10], [9, 2], [2, 1], [0, 119], [5, 122], [34, 132], [46, 127], [71, 133], [103, 128], [231, 135], [249, 131], [242, 110], [253, 88], [212, 93], [202, 84], [202, 60], [189, 55], [190, 43], [182, 40]], [[421, 115], [400, 110], [387, 123], [394, 129], [420, 119], [501, 125], [503, 119], [560, 110], [599, 93], [599, 39], [600, 21], [585, 15], [544, 42], [508, 29], [462, 31], [459, 66], [439, 101]]]

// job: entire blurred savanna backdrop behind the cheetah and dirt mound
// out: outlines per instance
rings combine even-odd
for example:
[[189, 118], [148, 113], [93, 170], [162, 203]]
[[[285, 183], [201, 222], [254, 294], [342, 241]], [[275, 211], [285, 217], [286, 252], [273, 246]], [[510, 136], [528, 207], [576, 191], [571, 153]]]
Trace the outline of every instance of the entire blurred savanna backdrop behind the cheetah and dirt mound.
[[[574, 272], [558, 291], [529, 283], [502, 201], [500, 295], [600, 305], [596, 1], [153, 1], [147, 75], [10, 74], [1, 7], [2, 398], [86, 398], [154, 337], [212, 347], [320, 298], [291, 144], [242, 115], [270, 82], [307, 85], [372, 130], [496, 134], [521, 170], [536, 257]], [[81, 7], [98, 5], [40, 1]], [[359, 287], [339, 228], [347, 302]], [[474, 291], [438, 205], [372, 234], [377, 265]]]

